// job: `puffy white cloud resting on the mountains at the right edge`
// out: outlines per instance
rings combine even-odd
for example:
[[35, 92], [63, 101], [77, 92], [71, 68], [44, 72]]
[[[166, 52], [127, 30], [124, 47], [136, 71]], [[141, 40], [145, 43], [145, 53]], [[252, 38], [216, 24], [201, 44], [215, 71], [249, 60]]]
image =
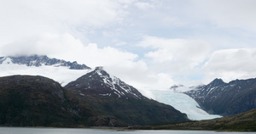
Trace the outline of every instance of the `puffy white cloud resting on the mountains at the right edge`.
[[222, 78], [224, 81], [253, 78], [256, 75], [256, 49], [224, 49], [212, 53], [203, 66], [205, 81]]

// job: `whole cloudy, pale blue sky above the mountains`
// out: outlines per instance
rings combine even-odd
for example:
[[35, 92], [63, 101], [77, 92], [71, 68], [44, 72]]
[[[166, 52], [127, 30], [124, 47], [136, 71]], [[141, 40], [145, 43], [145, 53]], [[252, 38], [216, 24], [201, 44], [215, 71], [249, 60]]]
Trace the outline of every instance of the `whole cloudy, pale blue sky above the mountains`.
[[256, 77], [254, 0], [0, 0], [0, 56], [103, 66], [143, 89]]

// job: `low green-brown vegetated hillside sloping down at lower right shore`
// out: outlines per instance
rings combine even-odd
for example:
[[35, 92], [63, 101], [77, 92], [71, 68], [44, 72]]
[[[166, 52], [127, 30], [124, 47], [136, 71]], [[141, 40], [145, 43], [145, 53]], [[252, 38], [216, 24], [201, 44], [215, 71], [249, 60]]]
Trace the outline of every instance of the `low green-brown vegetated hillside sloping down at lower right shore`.
[[135, 126], [131, 129], [256, 131], [256, 109], [213, 120], [192, 121], [166, 126]]

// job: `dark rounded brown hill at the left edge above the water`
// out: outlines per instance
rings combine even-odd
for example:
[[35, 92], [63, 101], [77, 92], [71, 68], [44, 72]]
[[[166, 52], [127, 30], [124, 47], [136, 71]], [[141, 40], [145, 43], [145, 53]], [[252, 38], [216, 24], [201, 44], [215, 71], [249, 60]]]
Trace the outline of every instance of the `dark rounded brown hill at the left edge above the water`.
[[[93, 115], [61, 85], [42, 76], [0, 78], [0, 125], [78, 126]], [[81, 114], [80, 111], [86, 111]]]

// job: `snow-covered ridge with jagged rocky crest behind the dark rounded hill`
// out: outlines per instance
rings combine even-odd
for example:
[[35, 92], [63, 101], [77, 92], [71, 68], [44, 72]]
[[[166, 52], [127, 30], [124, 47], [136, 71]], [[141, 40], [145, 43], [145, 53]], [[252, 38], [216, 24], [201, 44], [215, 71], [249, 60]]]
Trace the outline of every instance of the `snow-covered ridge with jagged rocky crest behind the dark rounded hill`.
[[91, 71], [85, 64], [38, 55], [0, 57], [0, 70], [0, 76], [42, 75], [60, 82], [62, 86]]

